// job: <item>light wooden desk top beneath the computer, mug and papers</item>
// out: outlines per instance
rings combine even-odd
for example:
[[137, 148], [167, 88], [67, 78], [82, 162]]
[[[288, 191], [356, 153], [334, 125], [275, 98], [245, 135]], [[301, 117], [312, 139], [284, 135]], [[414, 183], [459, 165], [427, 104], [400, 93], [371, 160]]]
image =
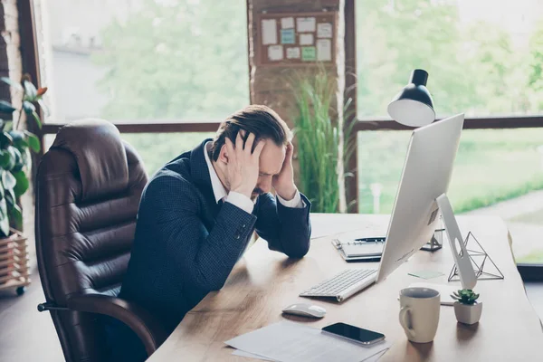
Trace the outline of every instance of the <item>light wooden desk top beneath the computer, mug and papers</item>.
[[[349, 224], [358, 224], [380, 231], [386, 230], [388, 223], [388, 216], [382, 215], [313, 214], [311, 219], [321, 230], [337, 223], [343, 230]], [[188, 312], [149, 361], [247, 361], [249, 358], [232, 356], [233, 349], [225, 347], [224, 341], [285, 318], [315, 328], [344, 321], [381, 331], [394, 345], [380, 361], [542, 360], [543, 332], [513, 262], [506, 225], [493, 216], [461, 216], [458, 221], [462, 234], [471, 230], [505, 276], [500, 281], [478, 281], [475, 291], [481, 293], [483, 309], [476, 325], [458, 324], [453, 308], [442, 306], [433, 343], [417, 345], [407, 341], [398, 323], [398, 291], [412, 282], [424, 281], [407, 275], [409, 271], [442, 271], [443, 277], [430, 281], [447, 282], [453, 264], [448, 241], [438, 252], [415, 253], [386, 281], [341, 304], [312, 300], [328, 313], [323, 319], [310, 320], [282, 316], [281, 308], [297, 301], [311, 301], [300, 298], [300, 291], [344, 268], [377, 264], [344, 262], [330, 244], [330, 237], [312, 240], [310, 252], [300, 261], [269, 251], [266, 243], [259, 240], [235, 266], [224, 288], [210, 293]]]

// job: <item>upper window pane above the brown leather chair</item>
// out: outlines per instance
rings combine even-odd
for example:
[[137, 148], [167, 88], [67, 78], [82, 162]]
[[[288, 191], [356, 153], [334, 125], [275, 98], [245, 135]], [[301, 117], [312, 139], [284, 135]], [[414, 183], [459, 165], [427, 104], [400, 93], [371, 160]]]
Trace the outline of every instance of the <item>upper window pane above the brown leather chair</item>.
[[244, 1], [34, 0], [51, 114], [224, 119], [249, 103]]

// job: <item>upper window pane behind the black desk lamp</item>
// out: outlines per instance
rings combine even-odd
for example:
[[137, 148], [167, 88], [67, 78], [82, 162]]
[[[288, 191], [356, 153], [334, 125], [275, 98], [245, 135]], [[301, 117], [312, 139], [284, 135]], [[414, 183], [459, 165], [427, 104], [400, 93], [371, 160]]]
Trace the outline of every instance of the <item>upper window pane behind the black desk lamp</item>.
[[410, 72], [429, 73], [438, 117], [539, 114], [543, 2], [357, 0], [358, 116], [387, 119]]

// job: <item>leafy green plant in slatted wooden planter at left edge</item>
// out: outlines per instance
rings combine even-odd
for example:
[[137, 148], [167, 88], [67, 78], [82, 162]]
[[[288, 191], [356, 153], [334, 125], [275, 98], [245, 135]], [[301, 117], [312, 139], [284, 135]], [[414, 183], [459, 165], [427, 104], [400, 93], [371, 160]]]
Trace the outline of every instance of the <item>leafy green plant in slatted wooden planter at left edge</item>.
[[[28, 119], [42, 127], [36, 104], [46, 110], [43, 94], [47, 88], [36, 89], [28, 75], [24, 75], [20, 82], [6, 77], [0, 81], [7, 83], [12, 90], [20, 91], [22, 96], [18, 108], [0, 100], [0, 290], [15, 287], [17, 293], [22, 294], [29, 279], [20, 198], [30, 186], [30, 152], [38, 152], [41, 142], [33, 133], [22, 129], [21, 119], [25, 113]], [[16, 119], [13, 118], [15, 111]]]

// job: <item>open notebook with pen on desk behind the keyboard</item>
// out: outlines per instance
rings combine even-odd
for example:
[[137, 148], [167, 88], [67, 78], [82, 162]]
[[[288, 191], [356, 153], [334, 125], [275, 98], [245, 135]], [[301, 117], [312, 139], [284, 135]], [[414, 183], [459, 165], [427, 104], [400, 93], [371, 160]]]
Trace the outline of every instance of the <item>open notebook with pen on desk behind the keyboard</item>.
[[346, 261], [376, 261], [383, 254], [385, 238], [334, 239], [332, 244]]

